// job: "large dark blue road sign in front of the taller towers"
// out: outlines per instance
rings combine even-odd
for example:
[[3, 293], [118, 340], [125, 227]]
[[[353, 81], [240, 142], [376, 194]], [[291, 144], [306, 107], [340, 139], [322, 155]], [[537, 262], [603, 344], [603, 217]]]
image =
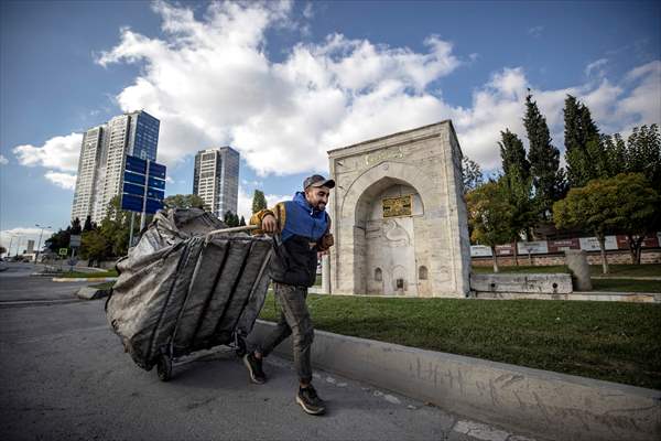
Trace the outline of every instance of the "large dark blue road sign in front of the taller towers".
[[121, 208], [149, 214], [163, 208], [165, 173], [165, 165], [127, 155]]

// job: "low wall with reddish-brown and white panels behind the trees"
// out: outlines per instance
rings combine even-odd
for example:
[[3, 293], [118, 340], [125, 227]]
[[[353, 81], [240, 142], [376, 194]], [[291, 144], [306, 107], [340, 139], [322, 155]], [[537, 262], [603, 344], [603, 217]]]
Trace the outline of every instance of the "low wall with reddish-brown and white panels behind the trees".
[[[625, 265], [631, 263], [631, 255], [629, 251], [618, 250], [618, 251], [607, 251], [606, 258], [608, 259], [608, 263], [615, 265]], [[473, 266], [475, 267], [491, 267], [494, 266], [494, 260], [491, 257], [474, 257]], [[530, 259], [528, 256], [519, 256], [518, 258], [519, 265], [533, 265], [540, 267], [548, 267], [552, 265], [565, 265], [564, 254], [554, 254], [554, 255], [532, 255]], [[531, 263], [532, 260], [532, 263]], [[587, 252], [587, 262], [589, 265], [602, 265], [602, 254], [599, 251], [589, 251]], [[641, 263], [661, 263], [661, 249], [643, 249], [642, 255], [640, 257]], [[514, 258], [513, 256], [499, 256], [498, 265], [502, 266], [513, 266]]]

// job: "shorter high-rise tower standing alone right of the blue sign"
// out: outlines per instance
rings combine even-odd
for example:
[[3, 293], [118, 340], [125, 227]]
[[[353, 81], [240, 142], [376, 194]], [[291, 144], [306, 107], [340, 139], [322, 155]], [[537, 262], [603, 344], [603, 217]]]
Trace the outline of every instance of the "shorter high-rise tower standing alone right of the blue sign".
[[237, 213], [239, 198], [239, 152], [231, 147], [201, 150], [195, 155], [193, 193], [203, 198], [219, 218]]

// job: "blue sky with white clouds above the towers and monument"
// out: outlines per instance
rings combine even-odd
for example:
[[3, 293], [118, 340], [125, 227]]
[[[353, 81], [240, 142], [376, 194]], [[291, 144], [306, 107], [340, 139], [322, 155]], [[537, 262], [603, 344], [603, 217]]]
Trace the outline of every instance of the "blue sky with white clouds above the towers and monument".
[[494, 170], [527, 88], [561, 150], [567, 93], [607, 133], [661, 122], [659, 2], [0, 4], [4, 246], [67, 225], [80, 133], [138, 108], [161, 119], [169, 194], [191, 193], [196, 150], [241, 152], [240, 213], [329, 149], [447, 118]]

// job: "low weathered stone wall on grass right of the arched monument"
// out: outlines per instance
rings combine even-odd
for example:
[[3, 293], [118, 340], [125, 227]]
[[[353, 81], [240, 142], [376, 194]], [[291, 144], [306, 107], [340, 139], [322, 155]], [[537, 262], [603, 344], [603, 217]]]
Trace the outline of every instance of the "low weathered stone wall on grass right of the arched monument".
[[470, 289], [477, 292], [524, 292], [546, 294], [566, 294], [573, 291], [572, 276], [566, 273], [472, 273]]

